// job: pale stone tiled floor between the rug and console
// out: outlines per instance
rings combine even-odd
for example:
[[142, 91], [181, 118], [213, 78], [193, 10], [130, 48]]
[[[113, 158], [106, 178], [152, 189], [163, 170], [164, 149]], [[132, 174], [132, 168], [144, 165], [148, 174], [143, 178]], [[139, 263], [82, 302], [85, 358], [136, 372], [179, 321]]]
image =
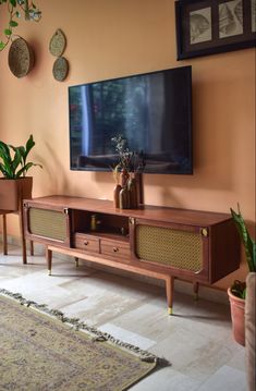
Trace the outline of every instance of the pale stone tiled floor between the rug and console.
[[51, 277], [46, 269], [42, 256], [28, 257], [28, 265], [22, 265], [21, 249], [13, 247], [10, 255], [0, 255], [0, 288], [61, 309], [172, 363], [133, 391], [246, 390], [244, 349], [232, 339], [227, 304], [194, 302], [179, 289], [174, 315], [168, 316], [161, 286], [82, 262], [76, 269], [63, 259], [53, 259]]

